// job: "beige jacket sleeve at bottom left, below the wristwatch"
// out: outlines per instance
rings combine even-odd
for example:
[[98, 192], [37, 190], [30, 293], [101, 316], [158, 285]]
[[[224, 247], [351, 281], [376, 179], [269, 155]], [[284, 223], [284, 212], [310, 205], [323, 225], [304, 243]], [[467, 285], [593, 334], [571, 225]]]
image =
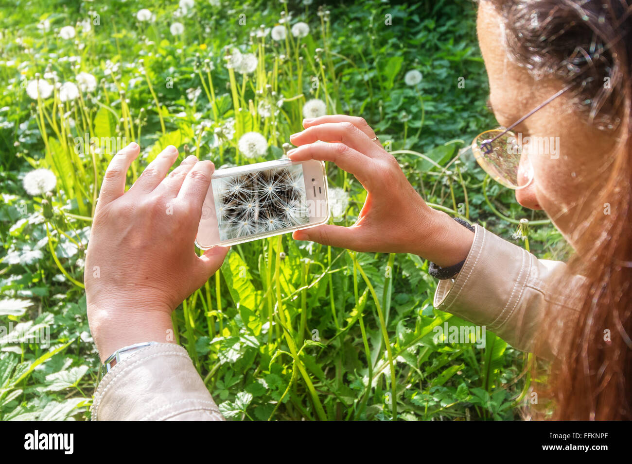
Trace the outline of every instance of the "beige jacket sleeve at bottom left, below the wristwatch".
[[157, 343], [112, 367], [92, 420], [224, 420], [185, 348]]

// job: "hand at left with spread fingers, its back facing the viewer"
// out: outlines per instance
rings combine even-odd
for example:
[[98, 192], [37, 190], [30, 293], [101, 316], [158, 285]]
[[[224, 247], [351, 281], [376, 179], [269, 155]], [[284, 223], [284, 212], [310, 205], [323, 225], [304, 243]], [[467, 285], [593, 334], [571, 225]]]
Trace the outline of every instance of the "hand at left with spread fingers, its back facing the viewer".
[[88, 322], [102, 360], [134, 343], [173, 341], [171, 311], [204, 285], [228, 252], [195, 253], [212, 162], [190, 156], [167, 175], [178, 158], [178, 149], [167, 146], [125, 191], [139, 152], [131, 143], [112, 158], [88, 242]]

